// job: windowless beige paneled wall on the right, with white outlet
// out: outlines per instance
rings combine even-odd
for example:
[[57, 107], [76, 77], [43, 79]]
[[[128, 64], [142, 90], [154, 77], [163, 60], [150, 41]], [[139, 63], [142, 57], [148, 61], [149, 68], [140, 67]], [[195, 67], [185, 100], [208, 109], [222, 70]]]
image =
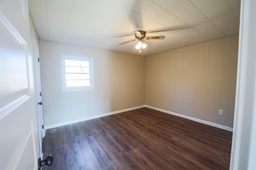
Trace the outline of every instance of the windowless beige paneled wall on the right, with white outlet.
[[233, 127], [237, 58], [238, 35], [146, 56], [146, 105]]

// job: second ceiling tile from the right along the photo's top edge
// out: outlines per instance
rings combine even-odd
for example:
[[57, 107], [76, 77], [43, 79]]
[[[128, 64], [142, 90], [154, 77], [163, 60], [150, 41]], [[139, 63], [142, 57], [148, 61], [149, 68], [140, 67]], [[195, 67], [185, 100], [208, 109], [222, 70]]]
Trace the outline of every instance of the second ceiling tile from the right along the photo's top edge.
[[204, 15], [213, 14], [229, 7], [226, 0], [190, 0]]

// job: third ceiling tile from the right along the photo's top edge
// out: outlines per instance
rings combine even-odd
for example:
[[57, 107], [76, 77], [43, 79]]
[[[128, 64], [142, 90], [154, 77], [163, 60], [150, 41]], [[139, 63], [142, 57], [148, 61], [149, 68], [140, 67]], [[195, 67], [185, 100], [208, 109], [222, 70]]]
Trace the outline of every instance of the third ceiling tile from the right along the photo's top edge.
[[186, 23], [204, 17], [189, 0], [159, 0], [156, 4]]

